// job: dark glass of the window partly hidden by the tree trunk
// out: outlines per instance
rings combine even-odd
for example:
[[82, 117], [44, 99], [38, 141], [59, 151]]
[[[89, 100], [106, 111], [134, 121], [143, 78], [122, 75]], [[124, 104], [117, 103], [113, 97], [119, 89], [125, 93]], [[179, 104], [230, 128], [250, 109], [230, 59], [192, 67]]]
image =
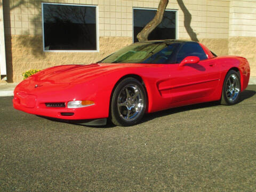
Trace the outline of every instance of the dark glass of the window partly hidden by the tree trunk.
[[[137, 35], [151, 21], [156, 10], [133, 9], [133, 41], [138, 42]], [[165, 11], [162, 22], [149, 34], [149, 40], [175, 39], [176, 12]]]

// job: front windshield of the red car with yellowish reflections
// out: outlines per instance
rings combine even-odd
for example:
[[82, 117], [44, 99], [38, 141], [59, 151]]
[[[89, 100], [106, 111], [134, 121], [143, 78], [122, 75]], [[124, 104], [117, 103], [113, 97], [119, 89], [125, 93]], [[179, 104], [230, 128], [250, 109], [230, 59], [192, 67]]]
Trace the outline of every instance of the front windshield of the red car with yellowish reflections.
[[101, 63], [167, 63], [177, 43], [147, 42], [131, 44], [101, 60]]

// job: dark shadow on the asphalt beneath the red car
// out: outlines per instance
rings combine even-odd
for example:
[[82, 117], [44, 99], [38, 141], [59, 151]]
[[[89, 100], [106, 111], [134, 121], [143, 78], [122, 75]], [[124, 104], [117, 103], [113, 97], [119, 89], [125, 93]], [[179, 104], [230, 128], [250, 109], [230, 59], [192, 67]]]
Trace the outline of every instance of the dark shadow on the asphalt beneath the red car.
[[[249, 99], [251, 97], [253, 97], [253, 95], [255, 95], [255, 91], [252, 90], [244, 90], [241, 93], [241, 97], [239, 102], [242, 102], [243, 100]], [[142, 118], [142, 120], [140, 121], [139, 124], [148, 122], [150, 120], [153, 120], [155, 118], [158, 117], [163, 117], [166, 115], [171, 115], [171, 114], [175, 114], [175, 113], [180, 113], [183, 111], [189, 111], [189, 110], [195, 110], [195, 109], [202, 109], [202, 108], [207, 108], [207, 107], [214, 107], [214, 106], [218, 106], [220, 105], [220, 101], [212, 101], [212, 102], [205, 102], [205, 103], [198, 103], [195, 105], [189, 105], [189, 106], [182, 106], [182, 107], [177, 107], [177, 108], [171, 108], [171, 109], [166, 109], [166, 110], [162, 110], [162, 111], [157, 111], [155, 113], [150, 113], [150, 114], [145, 114], [145, 116]], [[80, 126], [85, 126], [85, 127], [92, 127], [92, 128], [112, 128], [115, 127], [116, 125], [114, 125], [113, 123], [111, 123], [111, 121], [107, 121], [107, 125], [82, 125], [79, 123], [70, 123], [69, 120], [65, 120], [65, 119], [55, 119], [55, 118], [51, 118], [51, 117], [45, 117], [45, 116], [39, 116], [45, 119], [48, 119], [50, 121], [54, 121], [54, 122], [61, 122], [61, 123], [67, 123], [67, 124], [73, 124], [73, 125], [80, 125]]]

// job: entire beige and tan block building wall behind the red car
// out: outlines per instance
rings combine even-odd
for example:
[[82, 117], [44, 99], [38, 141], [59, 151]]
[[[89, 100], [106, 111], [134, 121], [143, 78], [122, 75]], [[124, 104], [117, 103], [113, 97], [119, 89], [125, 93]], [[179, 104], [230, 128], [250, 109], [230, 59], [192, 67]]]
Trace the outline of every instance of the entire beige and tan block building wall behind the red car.
[[[21, 74], [28, 69], [98, 61], [133, 43], [134, 10], [154, 10], [158, 3], [159, 0], [0, 0], [1, 78], [7, 75], [7, 82], [20, 82]], [[46, 8], [51, 5], [93, 7], [95, 49], [65, 50], [63, 45], [60, 50], [47, 46], [48, 25], [43, 22], [46, 12], [50, 12]], [[256, 77], [256, 0], [169, 0], [166, 10], [174, 13], [170, 25], [174, 38], [198, 39], [217, 55], [245, 57], [250, 62], [251, 76]]]

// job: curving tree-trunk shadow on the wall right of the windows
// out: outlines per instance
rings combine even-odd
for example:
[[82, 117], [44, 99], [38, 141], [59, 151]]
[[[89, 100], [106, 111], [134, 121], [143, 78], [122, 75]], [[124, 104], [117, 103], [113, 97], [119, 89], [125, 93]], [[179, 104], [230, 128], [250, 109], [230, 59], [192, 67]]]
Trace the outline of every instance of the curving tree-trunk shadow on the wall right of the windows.
[[187, 7], [183, 3], [183, 0], [177, 0], [177, 2], [178, 2], [179, 6], [180, 6], [180, 8], [181, 8], [181, 10], [184, 14], [184, 26], [186, 28], [186, 31], [187, 31], [188, 35], [190, 36], [192, 41], [199, 42], [196, 33], [194, 32], [194, 30], [190, 26], [192, 15], [189, 13]]

